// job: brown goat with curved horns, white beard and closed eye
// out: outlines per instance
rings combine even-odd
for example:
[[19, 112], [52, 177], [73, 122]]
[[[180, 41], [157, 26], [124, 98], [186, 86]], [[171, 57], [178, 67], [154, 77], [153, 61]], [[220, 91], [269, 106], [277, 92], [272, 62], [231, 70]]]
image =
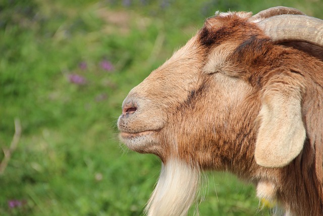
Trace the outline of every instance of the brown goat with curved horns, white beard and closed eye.
[[185, 215], [202, 170], [252, 182], [286, 215], [323, 215], [323, 21], [286, 7], [216, 13], [132, 89], [118, 119], [157, 155], [148, 215]]

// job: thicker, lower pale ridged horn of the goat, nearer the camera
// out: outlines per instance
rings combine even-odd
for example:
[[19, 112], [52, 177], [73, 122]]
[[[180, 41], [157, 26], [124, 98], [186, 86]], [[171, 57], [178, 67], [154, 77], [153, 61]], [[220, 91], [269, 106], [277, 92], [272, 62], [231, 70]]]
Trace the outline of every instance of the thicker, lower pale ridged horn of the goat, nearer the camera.
[[257, 25], [276, 42], [307, 42], [323, 48], [323, 20], [305, 15], [280, 15]]

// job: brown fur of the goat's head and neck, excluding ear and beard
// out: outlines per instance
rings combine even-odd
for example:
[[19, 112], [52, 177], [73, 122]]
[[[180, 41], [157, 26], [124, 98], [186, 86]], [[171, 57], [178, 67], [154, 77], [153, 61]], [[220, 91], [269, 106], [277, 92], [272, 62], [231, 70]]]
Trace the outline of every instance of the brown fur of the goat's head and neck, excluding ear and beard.
[[[231, 171], [255, 185], [268, 183], [287, 211], [322, 215], [323, 62], [318, 57], [323, 53], [304, 46], [274, 44], [255, 23], [234, 13], [212, 17], [131, 91], [125, 103], [138, 100], [137, 117], [121, 117], [119, 128], [150, 129], [141, 125], [143, 113], [154, 113], [151, 122], [162, 122], [162, 127], [153, 128], [155, 141], [145, 144], [153, 148], [137, 151], [154, 153], [164, 163], [175, 156], [202, 169]], [[278, 168], [254, 159], [256, 118], [271, 80], [302, 89], [306, 129], [301, 153]]]

